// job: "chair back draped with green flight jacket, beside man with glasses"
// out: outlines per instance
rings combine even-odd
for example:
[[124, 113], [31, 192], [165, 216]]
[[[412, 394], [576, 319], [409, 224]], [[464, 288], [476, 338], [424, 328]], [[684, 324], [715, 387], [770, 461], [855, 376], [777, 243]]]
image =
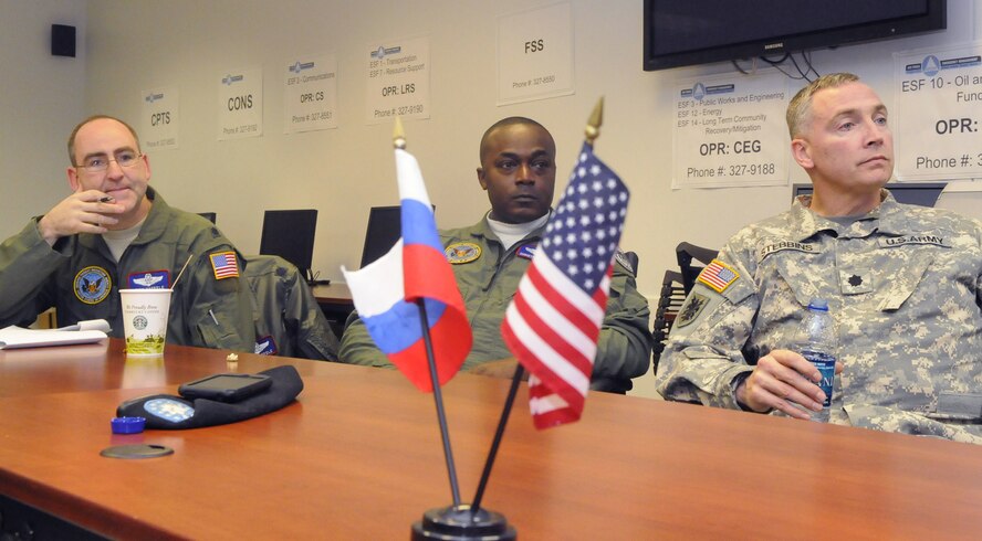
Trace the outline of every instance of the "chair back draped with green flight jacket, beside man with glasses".
[[275, 255], [245, 256], [255, 352], [337, 360], [338, 342], [300, 270]]

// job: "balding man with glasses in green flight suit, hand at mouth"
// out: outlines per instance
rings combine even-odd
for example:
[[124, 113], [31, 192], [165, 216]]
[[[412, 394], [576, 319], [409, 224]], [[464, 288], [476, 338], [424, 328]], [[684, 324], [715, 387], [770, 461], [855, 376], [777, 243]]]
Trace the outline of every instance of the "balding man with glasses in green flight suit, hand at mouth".
[[174, 290], [167, 342], [253, 351], [252, 297], [241, 256], [208, 220], [150, 188], [136, 131], [108, 117], [69, 137], [72, 194], [0, 244], [0, 327], [50, 307], [60, 326], [105, 319], [123, 336], [119, 289]]

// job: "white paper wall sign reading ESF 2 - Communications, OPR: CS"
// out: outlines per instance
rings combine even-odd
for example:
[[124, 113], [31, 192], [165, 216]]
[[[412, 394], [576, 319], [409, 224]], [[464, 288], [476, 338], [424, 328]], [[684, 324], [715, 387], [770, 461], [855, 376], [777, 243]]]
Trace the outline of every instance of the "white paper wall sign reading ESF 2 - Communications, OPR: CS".
[[283, 70], [285, 134], [337, 127], [337, 59], [333, 54], [304, 57]]

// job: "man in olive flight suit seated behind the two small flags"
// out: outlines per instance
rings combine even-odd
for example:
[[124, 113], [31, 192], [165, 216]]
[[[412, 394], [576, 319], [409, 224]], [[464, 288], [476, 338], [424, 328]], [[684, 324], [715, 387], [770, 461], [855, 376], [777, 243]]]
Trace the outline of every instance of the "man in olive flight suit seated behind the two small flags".
[[[510, 378], [516, 361], [501, 339], [501, 321], [545, 232], [555, 184], [555, 142], [539, 123], [510, 117], [481, 139], [478, 182], [491, 211], [470, 227], [440, 232], [447, 259], [467, 306], [473, 348], [463, 370]], [[637, 291], [634, 269], [618, 252], [607, 311], [600, 328], [591, 388], [625, 392], [651, 358], [648, 303]], [[390, 365], [357, 314], [341, 341], [343, 362]]]

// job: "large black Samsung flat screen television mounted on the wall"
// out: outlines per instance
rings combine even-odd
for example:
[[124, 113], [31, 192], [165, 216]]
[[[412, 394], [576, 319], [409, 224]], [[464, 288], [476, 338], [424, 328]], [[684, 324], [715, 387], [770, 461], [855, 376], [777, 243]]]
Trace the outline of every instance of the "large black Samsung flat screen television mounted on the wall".
[[947, 28], [946, 0], [645, 0], [645, 71]]

